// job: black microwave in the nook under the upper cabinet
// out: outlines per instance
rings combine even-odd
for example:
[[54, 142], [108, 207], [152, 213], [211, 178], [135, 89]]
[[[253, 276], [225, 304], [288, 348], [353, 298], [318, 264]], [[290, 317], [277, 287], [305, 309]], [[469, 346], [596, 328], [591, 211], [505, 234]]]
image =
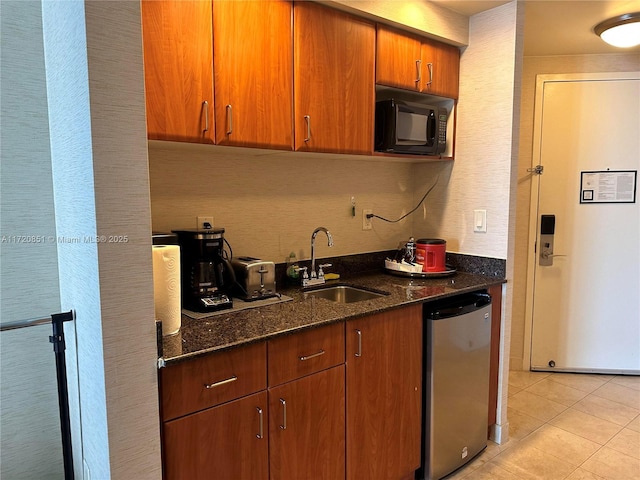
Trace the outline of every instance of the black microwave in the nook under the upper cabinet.
[[447, 109], [399, 100], [376, 102], [377, 152], [440, 155], [447, 144]]

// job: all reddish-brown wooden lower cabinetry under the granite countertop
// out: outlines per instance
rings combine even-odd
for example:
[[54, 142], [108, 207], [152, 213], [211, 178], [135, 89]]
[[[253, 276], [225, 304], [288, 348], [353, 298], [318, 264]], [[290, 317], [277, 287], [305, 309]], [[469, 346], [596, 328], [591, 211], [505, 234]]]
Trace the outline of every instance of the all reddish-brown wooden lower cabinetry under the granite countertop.
[[[497, 400], [500, 289], [490, 290], [498, 321], [489, 425]], [[165, 410], [177, 416], [163, 417], [165, 480], [404, 480], [420, 467], [421, 304], [193, 362], [161, 375], [163, 396], [173, 400]], [[176, 391], [197, 396], [196, 387], [230, 372], [238, 379], [222, 382], [222, 396], [193, 404], [176, 399]], [[187, 407], [195, 413], [185, 415]]]

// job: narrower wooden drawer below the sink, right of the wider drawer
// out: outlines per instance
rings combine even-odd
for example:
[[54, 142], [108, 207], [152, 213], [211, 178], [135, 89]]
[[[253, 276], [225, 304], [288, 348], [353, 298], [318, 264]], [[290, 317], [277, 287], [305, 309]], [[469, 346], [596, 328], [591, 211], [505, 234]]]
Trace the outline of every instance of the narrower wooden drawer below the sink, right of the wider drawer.
[[268, 342], [269, 386], [344, 363], [344, 323], [335, 323]]

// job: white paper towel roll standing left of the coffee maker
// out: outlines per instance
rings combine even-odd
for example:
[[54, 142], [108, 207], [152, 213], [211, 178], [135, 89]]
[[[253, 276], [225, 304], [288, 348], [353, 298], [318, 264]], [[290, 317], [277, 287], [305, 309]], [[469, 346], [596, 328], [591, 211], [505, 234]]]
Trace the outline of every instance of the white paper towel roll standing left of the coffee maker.
[[153, 293], [156, 320], [162, 322], [162, 334], [173, 335], [180, 330], [180, 247], [153, 246]]

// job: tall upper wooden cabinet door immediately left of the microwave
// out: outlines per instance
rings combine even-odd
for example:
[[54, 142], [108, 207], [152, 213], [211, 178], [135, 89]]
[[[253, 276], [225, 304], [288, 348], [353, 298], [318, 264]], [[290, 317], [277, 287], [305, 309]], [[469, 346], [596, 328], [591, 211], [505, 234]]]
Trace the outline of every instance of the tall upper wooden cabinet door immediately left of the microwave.
[[375, 28], [315, 2], [294, 5], [295, 148], [373, 151]]

